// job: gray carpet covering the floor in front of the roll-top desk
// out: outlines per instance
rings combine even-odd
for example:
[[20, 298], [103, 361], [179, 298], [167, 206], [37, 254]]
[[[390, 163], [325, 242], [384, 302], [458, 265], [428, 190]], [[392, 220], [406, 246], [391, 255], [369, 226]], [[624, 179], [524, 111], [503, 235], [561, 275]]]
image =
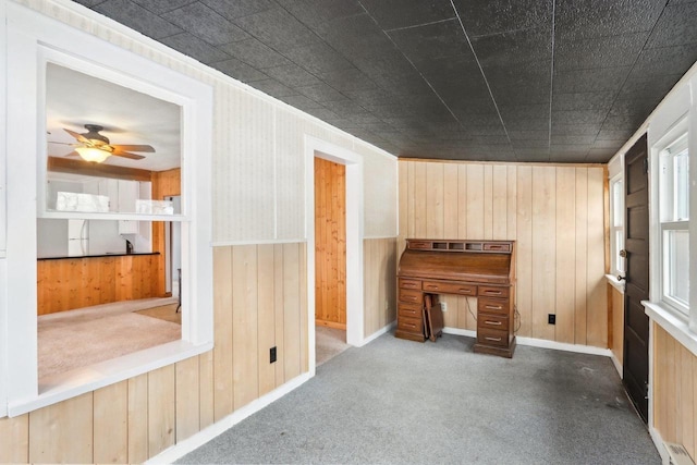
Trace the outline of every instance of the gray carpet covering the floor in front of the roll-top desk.
[[659, 464], [607, 357], [386, 334], [179, 463]]

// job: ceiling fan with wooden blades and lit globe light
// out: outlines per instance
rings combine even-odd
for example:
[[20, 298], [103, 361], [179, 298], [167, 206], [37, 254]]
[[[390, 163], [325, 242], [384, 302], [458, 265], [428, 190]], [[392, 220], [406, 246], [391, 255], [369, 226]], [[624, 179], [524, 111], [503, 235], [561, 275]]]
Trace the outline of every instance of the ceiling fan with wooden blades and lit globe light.
[[[99, 134], [99, 131], [103, 130], [103, 126], [98, 124], [85, 124], [87, 130], [84, 134], [78, 134], [74, 131], [63, 129], [68, 134], [75, 137], [78, 144], [68, 144], [75, 147], [75, 151], [66, 155], [80, 155], [85, 161], [94, 161], [101, 163], [110, 156], [130, 158], [132, 160], [140, 160], [145, 158], [142, 155], [132, 154], [131, 151], [143, 151], [154, 154], [155, 148], [150, 145], [118, 145], [111, 144], [109, 138]], [[62, 144], [62, 143], [53, 143]]]

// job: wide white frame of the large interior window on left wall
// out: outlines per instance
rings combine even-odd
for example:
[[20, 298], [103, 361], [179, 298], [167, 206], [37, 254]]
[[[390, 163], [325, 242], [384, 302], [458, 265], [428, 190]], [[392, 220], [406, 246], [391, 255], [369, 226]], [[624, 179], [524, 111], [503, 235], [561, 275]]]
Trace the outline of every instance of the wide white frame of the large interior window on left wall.
[[[0, 352], [7, 376], [11, 416], [50, 405], [137, 376], [212, 348], [211, 144], [212, 88], [150, 60], [73, 29], [22, 5], [7, 4], [7, 269], [0, 272], [0, 317], [7, 319], [7, 351]], [[0, 11], [1, 13], [1, 11]], [[4, 22], [3, 22], [4, 23]], [[2, 29], [0, 29], [1, 32]], [[158, 91], [182, 107], [182, 199], [187, 199], [182, 222], [183, 281], [182, 339], [86, 369], [39, 393], [37, 377], [36, 218], [37, 183], [45, 171], [46, 137], [41, 78], [41, 48], [49, 47], [94, 70], [112, 73], [111, 81]], [[115, 68], [118, 66], [118, 68]], [[89, 66], [88, 66], [89, 69]], [[3, 111], [4, 108], [0, 111]], [[0, 160], [2, 156], [0, 156]], [[194, 162], [195, 161], [195, 162]], [[100, 217], [103, 218], [103, 217]], [[138, 216], [138, 219], [147, 219]], [[169, 218], [169, 217], [168, 217]], [[158, 219], [161, 219], [159, 217]], [[7, 291], [7, 292], [5, 292]], [[0, 319], [0, 322], [2, 320]], [[12, 354], [12, 356], [9, 355]], [[2, 386], [5, 382], [7, 384]], [[4, 404], [4, 399], [2, 399]], [[0, 411], [2, 413], [2, 411]]]

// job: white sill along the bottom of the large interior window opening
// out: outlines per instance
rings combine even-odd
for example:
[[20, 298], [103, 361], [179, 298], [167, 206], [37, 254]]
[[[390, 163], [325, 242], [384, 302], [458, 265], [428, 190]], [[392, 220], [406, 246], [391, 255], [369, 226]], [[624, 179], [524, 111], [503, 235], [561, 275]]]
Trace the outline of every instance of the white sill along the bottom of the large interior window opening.
[[88, 367], [59, 374], [41, 380], [37, 396], [25, 397], [10, 403], [8, 414], [14, 417], [52, 405], [203, 354], [212, 347], [212, 342], [194, 345], [185, 341], [174, 341]]

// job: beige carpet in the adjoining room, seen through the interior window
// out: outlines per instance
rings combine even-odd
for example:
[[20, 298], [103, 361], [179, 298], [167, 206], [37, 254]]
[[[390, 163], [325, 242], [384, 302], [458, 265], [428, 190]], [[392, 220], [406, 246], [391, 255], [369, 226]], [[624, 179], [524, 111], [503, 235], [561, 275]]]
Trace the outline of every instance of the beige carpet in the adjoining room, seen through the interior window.
[[169, 307], [172, 302], [145, 299], [40, 316], [39, 383], [52, 375], [179, 340], [180, 325], [135, 313], [162, 304]]

